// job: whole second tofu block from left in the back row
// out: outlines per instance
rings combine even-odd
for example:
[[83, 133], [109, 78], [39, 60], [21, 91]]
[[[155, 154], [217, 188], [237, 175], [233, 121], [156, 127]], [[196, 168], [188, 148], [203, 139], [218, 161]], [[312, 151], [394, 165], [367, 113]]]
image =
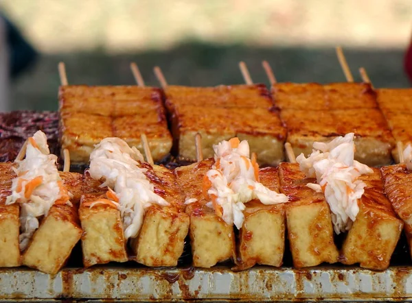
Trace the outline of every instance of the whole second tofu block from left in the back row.
[[214, 155], [214, 144], [238, 136], [249, 141], [261, 164], [277, 165], [283, 160], [286, 132], [262, 84], [216, 88], [169, 86], [165, 95], [174, 143], [181, 158], [196, 160], [194, 136], [199, 132], [205, 158]]

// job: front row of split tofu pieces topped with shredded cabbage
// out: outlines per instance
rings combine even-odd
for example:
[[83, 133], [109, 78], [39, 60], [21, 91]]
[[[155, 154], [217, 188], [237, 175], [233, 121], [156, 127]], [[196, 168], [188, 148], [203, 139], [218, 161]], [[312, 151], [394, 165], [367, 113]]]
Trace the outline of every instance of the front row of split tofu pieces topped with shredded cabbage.
[[[244, 142], [223, 141], [215, 158], [169, 170], [144, 162], [118, 138], [107, 138], [95, 147], [84, 175], [57, 173], [57, 195], [49, 183], [53, 169], [35, 175], [44, 165], [34, 158], [49, 164], [56, 159], [44, 141], [32, 139], [23, 162], [0, 166], [0, 266], [56, 274], [80, 239], [85, 267], [127, 260], [176, 266], [188, 234], [195, 267], [229, 259], [233, 269], [256, 263], [279, 267], [287, 235], [297, 268], [339, 261], [385, 269], [404, 225], [411, 239], [412, 179], [405, 165], [373, 169], [359, 178], [365, 192], [338, 249], [330, 201], [308, 186], [317, 180], [306, 178], [297, 163], [259, 169]], [[221, 145], [227, 149], [220, 152]], [[232, 152], [239, 171], [230, 169]], [[229, 171], [222, 168], [224, 161]], [[35, 169], [27, 171], [30, 165]], [[233, 182], [222, 187], [230, 175]], [[45, 204], [47, 197], [54, 202]]]

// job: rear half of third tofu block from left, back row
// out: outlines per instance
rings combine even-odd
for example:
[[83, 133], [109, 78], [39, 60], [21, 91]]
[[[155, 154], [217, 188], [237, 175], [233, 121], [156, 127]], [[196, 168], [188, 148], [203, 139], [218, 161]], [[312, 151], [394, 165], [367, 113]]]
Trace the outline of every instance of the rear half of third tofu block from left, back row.
[[276, 83], [272, 87], [276, 106], [282, 110], [348, 110], [377, 108], [376, 93], [366, 83]]

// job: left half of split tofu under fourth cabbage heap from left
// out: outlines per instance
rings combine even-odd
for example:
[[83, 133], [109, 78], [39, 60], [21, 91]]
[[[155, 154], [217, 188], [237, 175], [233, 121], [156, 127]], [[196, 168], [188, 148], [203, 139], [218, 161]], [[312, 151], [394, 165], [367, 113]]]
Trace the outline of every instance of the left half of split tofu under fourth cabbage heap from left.
[[334, 244], [330, 208], [321, 193], [306, 184], [299, 164], [282, 162], [279, 165], [280, 190], [289, 197], [286, 203], [286, 223], [293, 265], [297, 268], [335, 263], [339, 252]]

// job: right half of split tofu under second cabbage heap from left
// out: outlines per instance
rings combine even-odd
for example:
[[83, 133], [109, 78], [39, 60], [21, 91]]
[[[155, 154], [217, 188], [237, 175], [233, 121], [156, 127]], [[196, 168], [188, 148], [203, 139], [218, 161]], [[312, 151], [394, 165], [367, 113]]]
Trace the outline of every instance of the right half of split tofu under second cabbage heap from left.
[[176, 266], [183, 253], [190, 218], [185, 213], [185, 198], [172, 171], [159, 165], [142, 164], [155, 193], [170, 206], [150, 206], [144, 215], [139, 236], [130, 246], [137, 262], [151, 267]]

